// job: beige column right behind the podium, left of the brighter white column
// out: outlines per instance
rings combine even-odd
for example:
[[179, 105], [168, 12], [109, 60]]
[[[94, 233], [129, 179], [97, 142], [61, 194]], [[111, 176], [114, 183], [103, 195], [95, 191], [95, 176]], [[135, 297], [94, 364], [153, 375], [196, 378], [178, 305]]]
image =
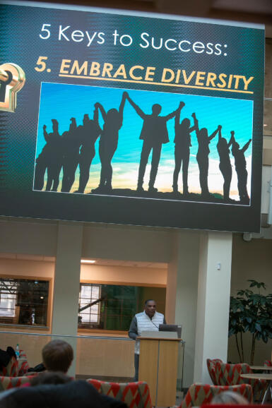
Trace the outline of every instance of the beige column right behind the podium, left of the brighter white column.
[[[179, 231], [173, 242], [167, 274], [167, 323], [182, 325], [184, 349], [183, 387], [194, 379], [196, 301], [199, 275], [199, 232]], [[182, 360], [180, 360], [182, 365]]]

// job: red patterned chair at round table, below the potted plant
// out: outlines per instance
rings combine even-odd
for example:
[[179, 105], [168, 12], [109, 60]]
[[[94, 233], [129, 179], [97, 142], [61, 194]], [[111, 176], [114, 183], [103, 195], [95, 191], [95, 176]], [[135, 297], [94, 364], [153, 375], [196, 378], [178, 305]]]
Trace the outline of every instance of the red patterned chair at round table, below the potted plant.
[[260, 400], [262, 393], [266, 390], [266, 380], [251, 380], [241, 377], [241, 374], [247, 373], [253, 373], [253, 371], [246, 363], [215, 363], [215, 378], [218, 385], [249, 384], [252, 386], [254, 400]]

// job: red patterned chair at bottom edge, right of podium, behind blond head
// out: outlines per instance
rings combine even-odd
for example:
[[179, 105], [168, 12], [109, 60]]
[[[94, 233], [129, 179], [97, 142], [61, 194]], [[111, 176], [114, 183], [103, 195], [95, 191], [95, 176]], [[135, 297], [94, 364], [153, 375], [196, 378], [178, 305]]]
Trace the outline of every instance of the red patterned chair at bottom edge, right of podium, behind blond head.
[[241, 385], [210, 385], [210, 384], [193, 384], [189, 387], [179, 408], [200, 407], [202, 404], [209, 404], [215, 395], [224, 391], [239, 392], [246, 400], [252, 402], [252, 386], [249, 384]]

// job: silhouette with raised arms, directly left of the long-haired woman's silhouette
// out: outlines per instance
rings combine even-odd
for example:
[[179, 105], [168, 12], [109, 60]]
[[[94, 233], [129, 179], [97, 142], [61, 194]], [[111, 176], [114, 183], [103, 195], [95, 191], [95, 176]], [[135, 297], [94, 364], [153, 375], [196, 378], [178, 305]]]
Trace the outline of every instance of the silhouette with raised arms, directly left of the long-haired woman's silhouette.
[[95, 142], [100, 136], [101, 128], [98, 124], [98, 107], [95, 107], [93, 120], [88, 114], [84, 115], [83, 126], [78, 126], [81, 139], [81, 150], [79, 153], [79, 186], [75, 193], [84, 193], [85, 186], [90, 176], [90, 164], [95, 157]]

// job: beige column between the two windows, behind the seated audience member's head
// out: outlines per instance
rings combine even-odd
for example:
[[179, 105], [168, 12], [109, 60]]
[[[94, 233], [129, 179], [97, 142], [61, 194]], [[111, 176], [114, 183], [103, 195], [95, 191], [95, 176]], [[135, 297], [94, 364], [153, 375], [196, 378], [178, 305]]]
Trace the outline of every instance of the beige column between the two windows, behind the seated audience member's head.
[[78, 294], [81, 276], [81, 248], [83, 225], [59, 223], [57, 256], [54, 273], [54, 295], [52, 313], [52, 334], [71, 343], [74, 360], [69, 374], [75, 375], [76, 336], [78, 332]]

